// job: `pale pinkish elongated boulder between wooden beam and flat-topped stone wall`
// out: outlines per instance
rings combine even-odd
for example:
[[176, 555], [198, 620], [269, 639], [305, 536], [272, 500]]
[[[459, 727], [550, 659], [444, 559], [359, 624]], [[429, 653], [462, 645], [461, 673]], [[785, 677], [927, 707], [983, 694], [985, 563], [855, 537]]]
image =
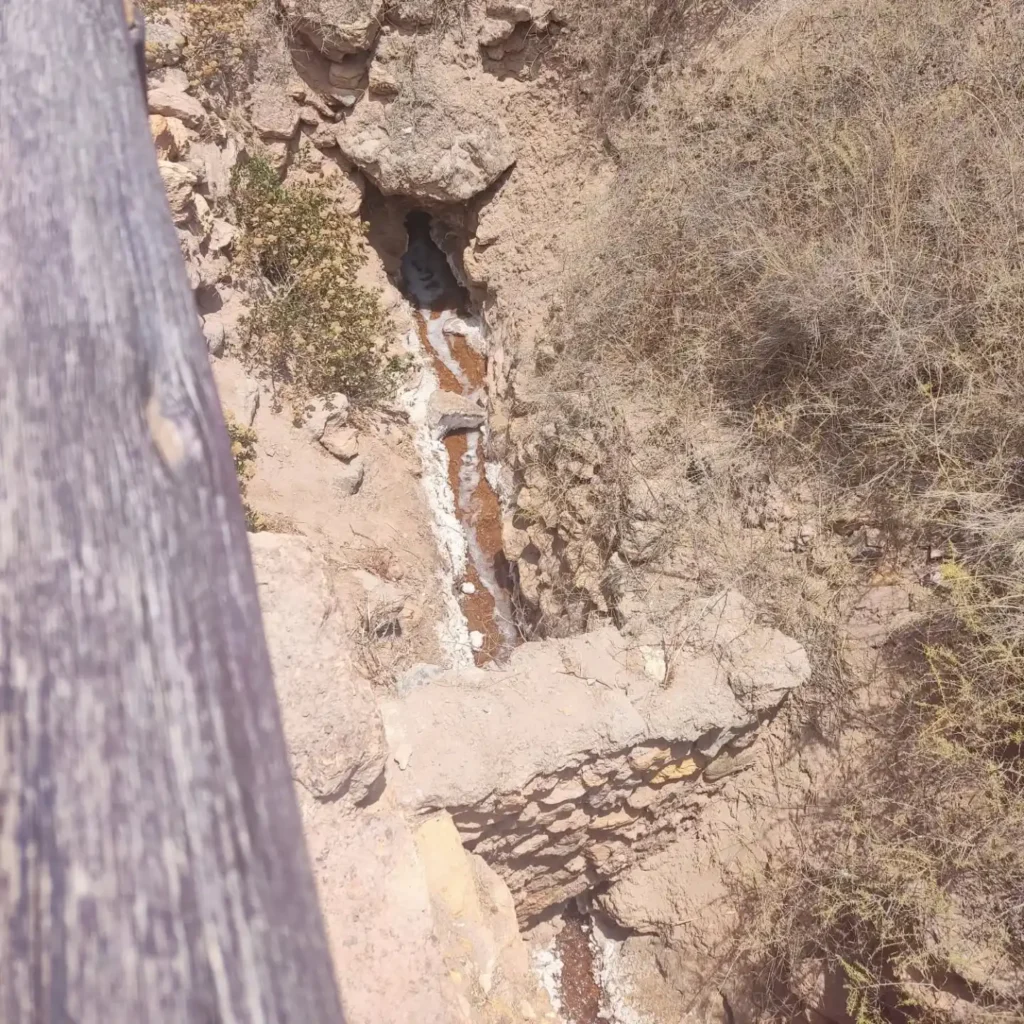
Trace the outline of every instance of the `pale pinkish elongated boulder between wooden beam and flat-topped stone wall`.
[[250, 546], [296, 781], [319, 800], [366, 801], [382, 781], [384, 734], [324, 560], [291, 535], [253, 534]]

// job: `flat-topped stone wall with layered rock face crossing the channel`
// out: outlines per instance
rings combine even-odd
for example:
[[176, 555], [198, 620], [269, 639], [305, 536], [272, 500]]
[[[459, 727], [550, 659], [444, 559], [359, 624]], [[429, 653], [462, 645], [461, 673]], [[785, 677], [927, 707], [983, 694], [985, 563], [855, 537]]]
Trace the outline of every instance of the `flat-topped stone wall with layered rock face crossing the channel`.
[[607, 628], [526, 644], [500, 670], [420, 671], [383, 705], [399, 802], [449, 811], [521, 920], [668, 845], [810, 675], [736, 592], [685, 620], [674, 651]]

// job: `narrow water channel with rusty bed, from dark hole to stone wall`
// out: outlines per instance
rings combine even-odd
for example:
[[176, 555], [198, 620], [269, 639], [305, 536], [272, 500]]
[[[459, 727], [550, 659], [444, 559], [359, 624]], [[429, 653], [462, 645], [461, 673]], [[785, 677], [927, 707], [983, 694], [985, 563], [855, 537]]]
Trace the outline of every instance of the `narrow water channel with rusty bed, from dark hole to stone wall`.
[[[468, 297], [430, 234], [430, 217], [406, 220], [409, 248], [401, 261], [402, 286], [414, 304], [420, 345], [441, 391], [486, 406], [486, 355], [466, 330]], [[477, 339], [482, 343], [482, 336]], [[482, 344], [480, 344], [482, 347]], [[469, 626], [473, 658], [485, 665], [518, 642], [509, 597], [509, 567], [502, 551], [502, 513], [484, 464], [482, 429], [450, 431], [442, 438], [456, 517], [466, 539], [465, 574], [457, 596]]]

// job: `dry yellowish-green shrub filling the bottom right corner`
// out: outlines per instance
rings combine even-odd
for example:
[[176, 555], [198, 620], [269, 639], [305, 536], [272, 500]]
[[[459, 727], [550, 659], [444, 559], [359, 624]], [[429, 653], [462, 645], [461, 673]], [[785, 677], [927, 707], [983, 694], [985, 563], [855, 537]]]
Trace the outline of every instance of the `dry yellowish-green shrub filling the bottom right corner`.
[[752, 894], [766, 1017], [790, 1019], [820, 964], [858, 1024], [1024, 1019], [1024, 618], [954, 563], [944, 574], [950, 614], [929, 625], [889, 734]]

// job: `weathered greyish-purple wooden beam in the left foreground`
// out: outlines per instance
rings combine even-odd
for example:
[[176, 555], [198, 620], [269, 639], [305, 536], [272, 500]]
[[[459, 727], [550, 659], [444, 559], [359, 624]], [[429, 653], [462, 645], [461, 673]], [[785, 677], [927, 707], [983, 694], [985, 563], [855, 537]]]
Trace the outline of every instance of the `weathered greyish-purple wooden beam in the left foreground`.
[[0, 0], [0, 1020], [341, 1020], [122, 0]]

